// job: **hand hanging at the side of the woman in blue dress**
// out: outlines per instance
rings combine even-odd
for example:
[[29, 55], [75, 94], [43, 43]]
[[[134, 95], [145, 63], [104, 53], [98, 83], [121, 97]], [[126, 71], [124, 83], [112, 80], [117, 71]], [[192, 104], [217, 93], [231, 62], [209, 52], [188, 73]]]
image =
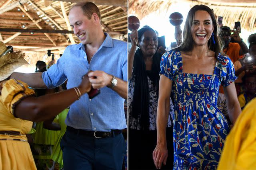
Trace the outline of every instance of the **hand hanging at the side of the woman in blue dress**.
[[167, 146], [157, 144], [155, 150], [153, 151], [153, 160], [154, 160], [156, 169], [161, 169], [162, 163], [166, 165], [167, 157], [168, 157]]

